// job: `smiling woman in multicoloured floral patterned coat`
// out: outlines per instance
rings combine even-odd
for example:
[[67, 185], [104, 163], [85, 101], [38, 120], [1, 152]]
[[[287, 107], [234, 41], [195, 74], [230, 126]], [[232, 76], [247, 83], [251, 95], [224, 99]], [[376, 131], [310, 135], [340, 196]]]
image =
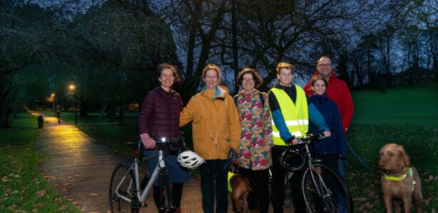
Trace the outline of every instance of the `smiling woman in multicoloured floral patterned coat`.
[[236, 84], [242, 89], [234, 100], [239, 110], [241, 140], [234, 163], [256, 190], [249, 194], [249, 209], [264, 213], [269, 208], [268, 175], [273, 143], [268, 96], [254, 88], [261, 83], [260, 75], [251, 68], [245, 68], [237, 77]]

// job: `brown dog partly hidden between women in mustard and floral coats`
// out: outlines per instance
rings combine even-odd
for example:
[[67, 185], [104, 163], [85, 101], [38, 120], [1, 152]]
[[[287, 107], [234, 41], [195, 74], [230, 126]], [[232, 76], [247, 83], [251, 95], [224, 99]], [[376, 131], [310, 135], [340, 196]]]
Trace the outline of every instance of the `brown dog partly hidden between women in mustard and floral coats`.
[[[231, 200], [234, 207], [238, 207], [240, 213], [247, 213], [249, 192], [255, 192], [249, 184], [249, 180], [242, 175], [233, 175], [229, 180], [229, 185], [233, 190]], [[239, 201], [239, 197], [243, 200], [243, 204]]]

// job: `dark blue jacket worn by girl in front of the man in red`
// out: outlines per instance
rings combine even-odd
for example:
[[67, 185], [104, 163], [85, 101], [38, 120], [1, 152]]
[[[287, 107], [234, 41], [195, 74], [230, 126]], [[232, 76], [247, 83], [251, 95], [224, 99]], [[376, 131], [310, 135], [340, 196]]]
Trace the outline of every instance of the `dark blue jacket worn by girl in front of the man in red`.
[[[311, 102], [324, 116], [325, 123], [328, 124], [328, 127], [332, 131], [330, 137], [312, 143], [313, 151], [320, 154], [337, 153], [341, 156], [341, 159], [344, 160], [347, 158], [347, 144], [345, 143], [342, 120], [340, 119], [336, 103], [328, 99], [326, 94], [313, 94], [311, 96]], [[309, 131], [318, 133], [318, 125], [313, 123], [313, 121], [309, 122]]]

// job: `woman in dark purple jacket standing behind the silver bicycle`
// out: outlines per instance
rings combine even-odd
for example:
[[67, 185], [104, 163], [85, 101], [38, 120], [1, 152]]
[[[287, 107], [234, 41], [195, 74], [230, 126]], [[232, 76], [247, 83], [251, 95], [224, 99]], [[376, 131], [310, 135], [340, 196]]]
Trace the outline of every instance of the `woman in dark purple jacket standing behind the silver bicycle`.
[[[179, 138], [179, 112], [182, 111], [181, 97], [171, 89], [174, 82], [179, 80], [177, 69], [170, 64], [161, 64], [157, 67], [157, 77], [161, 86], [153, 89], [147, 94], [142, 104], [140, 116], [138, 117], [138, 131], [143, 145], [146, 148], [145, 156], [154, 155], [158, 151], [155, 148], [155, 141], [161, 138]], [[183, 182], [190, 179], [186, 168], [177, 163], [178, 149], [166, 156], [166, 169], [172, 182], [172, 201], [177, 207], [174, 212], [182, 212], [180, 202], [182, 197]], [[158, 165], [158, 159], [147, 160], [150, 173], [152, 174]], [[157, 209], [160, 209], [160, 187], [158, 181], [154, 183], [154, 201]]]

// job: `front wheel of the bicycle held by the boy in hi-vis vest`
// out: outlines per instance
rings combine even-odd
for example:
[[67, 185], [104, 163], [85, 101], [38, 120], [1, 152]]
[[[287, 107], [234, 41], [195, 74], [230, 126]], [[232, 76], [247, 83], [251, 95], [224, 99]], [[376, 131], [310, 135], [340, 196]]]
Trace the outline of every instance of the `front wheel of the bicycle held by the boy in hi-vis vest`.
[[308, 212], [353, 212], [348, 185], [328, 166], [316, 163], [303, 173], [301, 190]]

